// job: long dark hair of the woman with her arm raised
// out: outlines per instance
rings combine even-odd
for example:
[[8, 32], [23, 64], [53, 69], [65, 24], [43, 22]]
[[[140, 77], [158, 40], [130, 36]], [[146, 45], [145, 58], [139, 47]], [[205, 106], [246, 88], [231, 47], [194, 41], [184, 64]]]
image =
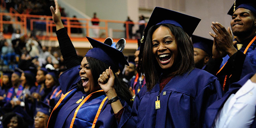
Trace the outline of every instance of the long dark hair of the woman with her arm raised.
[[[88, 64], [90, 65], [94, 86], [99, 86], [98, 78], [100, 74], [102, 74], [104, 71], [106, 71], [106, 69], [109, 68], [109, 66], [104, 62], [94, 59], [92, 57], [86, 57], [86, 59], [88, 61]], [[114, 88], [116, 90], [118, 97], [125, 100], [129, 105], [131, 105], [131, 94], [128, 89], [128, 86], [125, 84], [123, 80], [120, 80], [115, 74], [114, 76], [115, 76]], [[83, 90], [83, 86], [81, 85], [79, 85], [78, 88]]]

